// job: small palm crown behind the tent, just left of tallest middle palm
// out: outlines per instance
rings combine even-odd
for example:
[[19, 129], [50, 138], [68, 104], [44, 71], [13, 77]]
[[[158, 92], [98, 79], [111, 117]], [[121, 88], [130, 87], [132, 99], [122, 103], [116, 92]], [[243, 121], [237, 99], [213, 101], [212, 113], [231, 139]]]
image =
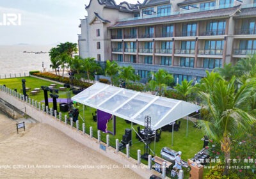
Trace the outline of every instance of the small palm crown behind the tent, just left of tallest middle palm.
[[140, 76], [135, 74], [135, 70], [131, 65], [120, 68], [119, 77], [125, 82], [140, 80]]

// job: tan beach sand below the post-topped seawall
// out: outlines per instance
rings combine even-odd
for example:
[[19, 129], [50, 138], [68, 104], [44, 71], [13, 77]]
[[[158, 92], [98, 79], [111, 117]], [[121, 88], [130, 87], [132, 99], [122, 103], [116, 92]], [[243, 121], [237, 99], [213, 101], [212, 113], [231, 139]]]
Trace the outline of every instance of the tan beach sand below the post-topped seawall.
[[26, 131], [20, 128], [17, 134], [16, 122], [0, 114], [0, 178], [141, 176], [47, 124], [26, 123]]

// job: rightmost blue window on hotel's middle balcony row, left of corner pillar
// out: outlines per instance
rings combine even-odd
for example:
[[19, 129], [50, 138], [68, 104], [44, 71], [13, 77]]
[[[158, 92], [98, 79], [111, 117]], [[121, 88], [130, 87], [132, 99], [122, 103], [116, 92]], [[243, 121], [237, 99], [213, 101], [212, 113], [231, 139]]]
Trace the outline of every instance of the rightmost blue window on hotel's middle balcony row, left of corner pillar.
[[223, 54], [224, 40], [205, 40], [205, 53], [211, 55]]

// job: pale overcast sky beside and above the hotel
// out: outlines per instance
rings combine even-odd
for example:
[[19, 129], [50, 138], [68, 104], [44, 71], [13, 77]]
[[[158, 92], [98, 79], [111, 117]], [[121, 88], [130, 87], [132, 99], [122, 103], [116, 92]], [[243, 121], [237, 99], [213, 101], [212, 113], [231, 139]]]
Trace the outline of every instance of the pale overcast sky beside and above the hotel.
[[[137, 3], [137, 0], [126, 1]], [[0, 0], [0, 45], [77, 42], [77, 34], [80, 33], [79, 19], [84, 19], [84, 4], [89, 2], [90, 0]], [[120, 2], [122, 0], [116, 0], [116, 4]], [[12, 14], [20, 14], [20, 26], [6, 26], [8, 20], [4, 19], [8, 19], [7, 14], [9, 18]], [[13, 22], [19, 23], [17, 20]]]

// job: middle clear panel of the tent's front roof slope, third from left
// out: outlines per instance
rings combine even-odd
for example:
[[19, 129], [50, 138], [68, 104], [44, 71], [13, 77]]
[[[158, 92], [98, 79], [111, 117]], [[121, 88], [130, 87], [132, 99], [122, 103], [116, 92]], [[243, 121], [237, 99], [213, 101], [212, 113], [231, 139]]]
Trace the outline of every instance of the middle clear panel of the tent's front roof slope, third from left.
[[99, 107], [113, 111], [121, 105], [125, 104], [125, 102], [129, 100], [129, 98], [133, 97], [136, 93], [137, 92], [134, 91], [122, 90], [115, 96], [109, 98], [109, 100], [104, 102], [104, 104], [99, 105]]

